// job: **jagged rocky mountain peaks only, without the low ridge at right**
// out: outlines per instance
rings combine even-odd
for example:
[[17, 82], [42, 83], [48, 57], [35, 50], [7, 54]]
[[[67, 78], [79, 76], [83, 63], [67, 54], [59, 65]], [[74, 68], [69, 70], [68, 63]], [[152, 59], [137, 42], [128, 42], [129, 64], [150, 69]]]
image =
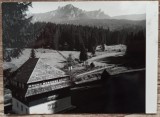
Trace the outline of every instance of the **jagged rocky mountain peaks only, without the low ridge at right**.
[[53, 22], [58, 23], [66, 20], [77, 19], [110, 19], [109, 15], [106, 15], [103, 11], [85, 11], [68, 4], [63, 7], [58, 7], [54, 11], [46, 13], [31, 14], [32, 22]]

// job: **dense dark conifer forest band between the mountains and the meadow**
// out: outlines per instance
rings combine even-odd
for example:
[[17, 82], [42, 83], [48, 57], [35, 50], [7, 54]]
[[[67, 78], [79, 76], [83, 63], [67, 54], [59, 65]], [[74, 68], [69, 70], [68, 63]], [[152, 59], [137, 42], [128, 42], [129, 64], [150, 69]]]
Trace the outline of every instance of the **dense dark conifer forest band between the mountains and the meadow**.
[[131, 40], [131, 37], [137, 36], [138, 39], [145, 32], [140, 26], [136, 29], [125, 28], [110, 31], [109, 29], [103, 29], [103, 27], [75, 26], [71, 24], [46, 23], [43, 25], [44, 28], [41, 29], [33, 44], [34, 48], [80, 51], [83, 46], [87, 51], [94, 53], [97, 45], [102, 45], [102, 48], [104, 44], [128, 45], [128, 40]]

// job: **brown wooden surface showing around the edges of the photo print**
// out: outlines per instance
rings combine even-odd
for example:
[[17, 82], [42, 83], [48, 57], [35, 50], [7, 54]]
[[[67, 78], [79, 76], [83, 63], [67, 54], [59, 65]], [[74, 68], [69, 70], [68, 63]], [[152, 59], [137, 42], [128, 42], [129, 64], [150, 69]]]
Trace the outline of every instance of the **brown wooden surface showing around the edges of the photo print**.
[[[57, 1], [57, 0], [0, 0], [0, 2], [15, 2], [15, 1]], [[66, 1], [66, 0], [58, 0]], [[74, 1], [74, 0], [70, 0]], [[77, 1], [77, 0], [76, 0]], [[82, 0], [84, 1], [84, 0]], [[95, 0], [97, 1], [97, 0]], [[111, 0], [110, 0], [111, 1]], [[159, 0], [160, 1], [160, 0]], [[159, 6], [160, 7], [160, 6]], [[160, 9], [159, 9], [160, 12]], [[0, 117], [7, 116], [3, 114], [3, 70], [2, 70], [2, 10], [0, 6]], [[160, 14], [159, 14], [160, 18]], [[160, 34], [160, 23], [159, 23]], [[159, 51], [160, 51], [160, 36], [159, 36]], [[160, 54], [158, 55], [158, 68], [160, 68]], [[24, 117], [160, 117], [160, 69], [158, 71], [158, 104], [157, 114], [55, 114], [55, 115], [23, 115]], [[20, 117], [20, 115], [9, 115], [9, 117]]]

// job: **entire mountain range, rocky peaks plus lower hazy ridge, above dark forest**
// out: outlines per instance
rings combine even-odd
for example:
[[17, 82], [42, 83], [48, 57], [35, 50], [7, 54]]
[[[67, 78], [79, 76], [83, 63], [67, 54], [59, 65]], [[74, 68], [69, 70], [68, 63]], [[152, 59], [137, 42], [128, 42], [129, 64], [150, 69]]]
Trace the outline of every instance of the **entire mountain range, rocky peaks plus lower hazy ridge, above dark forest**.
[[32, 22], [51, 22], [57, 24], [73, 24], [96, 26], [118, 30], [133, 26], [145, 27], [145, 14], [132, 14], [111, 17], [101, 9], [85, 11], [68, 4], [46, 13], [30, 14]]

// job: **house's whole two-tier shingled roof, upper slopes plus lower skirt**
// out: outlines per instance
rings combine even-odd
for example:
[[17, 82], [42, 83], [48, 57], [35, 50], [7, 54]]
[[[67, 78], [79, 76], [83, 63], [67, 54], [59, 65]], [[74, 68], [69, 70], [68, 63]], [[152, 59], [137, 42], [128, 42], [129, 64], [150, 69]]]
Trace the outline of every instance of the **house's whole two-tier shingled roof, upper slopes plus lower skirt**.
[[[14, 80], [28, 85], [38, 84], [41, 81], [47, 82], [52, 79], [69, 77], [66, 73], [55, 67], [52, 58], [29, 58], [18, 70]], [[53, 90], [69, 87], [70, 81], [62, 81], [43, 85], [36, 85], [23, 89], [21, 94], [25, 97], [50, 92]]]

